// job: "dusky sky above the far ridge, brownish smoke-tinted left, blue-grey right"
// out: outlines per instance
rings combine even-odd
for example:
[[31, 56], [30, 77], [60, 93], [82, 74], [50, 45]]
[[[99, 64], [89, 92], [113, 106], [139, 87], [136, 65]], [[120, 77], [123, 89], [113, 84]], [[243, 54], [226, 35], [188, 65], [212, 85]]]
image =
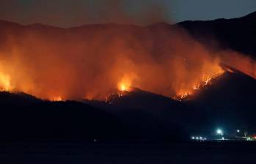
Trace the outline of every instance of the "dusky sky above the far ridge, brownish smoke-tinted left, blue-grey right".
[[255, 0], [0, 0], [2, 20], [64, 27], [236, 18], [253, 11]]

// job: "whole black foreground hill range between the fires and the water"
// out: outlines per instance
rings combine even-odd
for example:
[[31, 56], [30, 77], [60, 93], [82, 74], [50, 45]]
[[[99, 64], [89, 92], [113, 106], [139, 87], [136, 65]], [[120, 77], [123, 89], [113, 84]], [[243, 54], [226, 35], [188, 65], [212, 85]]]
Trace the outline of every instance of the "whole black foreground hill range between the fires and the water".
[[0, 141], [179, 141], [217, 126], [254, 132], [256, 80], [227, 70], [181, 102], [141, 89], [82, 103], [0, 92]]

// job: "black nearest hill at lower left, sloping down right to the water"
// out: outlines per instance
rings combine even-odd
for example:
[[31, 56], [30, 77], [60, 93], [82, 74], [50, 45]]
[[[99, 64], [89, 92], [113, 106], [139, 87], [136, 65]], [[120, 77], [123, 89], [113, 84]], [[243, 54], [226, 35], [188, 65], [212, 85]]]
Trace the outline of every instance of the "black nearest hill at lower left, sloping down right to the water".
[[0, 92], [0, 141], [119, 141], [133, 134], [111, 113], [75, 101]]

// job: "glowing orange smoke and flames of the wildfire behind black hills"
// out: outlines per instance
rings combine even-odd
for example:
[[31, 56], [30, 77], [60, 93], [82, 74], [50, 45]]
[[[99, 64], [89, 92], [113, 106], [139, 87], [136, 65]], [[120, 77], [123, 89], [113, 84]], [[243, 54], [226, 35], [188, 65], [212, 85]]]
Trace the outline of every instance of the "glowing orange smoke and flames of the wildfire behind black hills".
[[238, 65], [166, 24], [78, 29], [17, 25], [1, 36], [1, 90], [54, 101], [105, 100], [117, 89], [129, 92], [132, 87], [183, 100], [222, 75], [220, 63]]

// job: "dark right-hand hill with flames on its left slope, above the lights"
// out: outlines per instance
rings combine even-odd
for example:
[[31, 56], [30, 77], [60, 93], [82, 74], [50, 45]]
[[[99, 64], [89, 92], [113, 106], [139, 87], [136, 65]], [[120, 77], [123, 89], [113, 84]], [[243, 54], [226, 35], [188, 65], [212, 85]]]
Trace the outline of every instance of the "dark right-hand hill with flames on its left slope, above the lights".
[[190, 108], [204, 113], [207, 125], [201, 127], [208, 133], [208, 127], [214, 126], [227, 130], [246, 128], [255, 133], [256, 81], [238, 70], [232, 71], [216, 78], [186, 102]]

